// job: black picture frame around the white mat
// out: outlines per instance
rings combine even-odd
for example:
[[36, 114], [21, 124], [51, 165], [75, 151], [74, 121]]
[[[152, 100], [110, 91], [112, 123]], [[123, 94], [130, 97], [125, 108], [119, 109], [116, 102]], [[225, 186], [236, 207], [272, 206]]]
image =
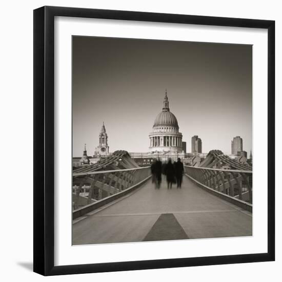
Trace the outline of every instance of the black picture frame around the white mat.
[[[54, 17], [87, 17], [268, 30], [268, 252], [54, 266]], [[162, 14], [66, 7], [34, 10], [34, 272], [78, 274], [275, 259], [275, 22], [259, 19]]]

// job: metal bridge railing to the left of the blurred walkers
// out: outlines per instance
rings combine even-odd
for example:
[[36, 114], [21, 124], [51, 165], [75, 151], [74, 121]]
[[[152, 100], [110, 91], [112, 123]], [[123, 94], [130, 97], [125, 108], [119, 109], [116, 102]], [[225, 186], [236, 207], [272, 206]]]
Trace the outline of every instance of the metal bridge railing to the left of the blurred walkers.
[[[118, 197], [118, 194], [122, 195], [123, 191], [142, 184], [150, 176], [150, 167], [73, 173], [73, 211], [93, 205], [113, 195]], [[107, 200], [108, 202], [110, 201]]]

